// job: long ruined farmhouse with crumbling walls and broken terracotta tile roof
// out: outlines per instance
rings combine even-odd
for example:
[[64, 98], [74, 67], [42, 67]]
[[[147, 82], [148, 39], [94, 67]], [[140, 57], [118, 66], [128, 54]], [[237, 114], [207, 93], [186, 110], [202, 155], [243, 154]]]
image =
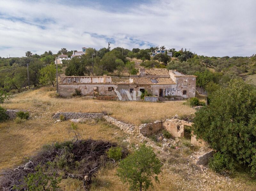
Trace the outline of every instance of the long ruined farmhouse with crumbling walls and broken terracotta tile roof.
[[[122, 100], [140, 100], [140, 92], [147, 91], [145, 99], [162, 97], [195, 97], [196, 76], [185, 75], [177, 70], [140, 68], [139, 75], [130, 75], [129, 81], [112, 81], [111, 76], [65, 76], [59, 83], [59, 94], [71, 96], [76, 89], [84, 96], [105, 97]], [[130, 96], [131, 97], [131, 96]], [[102, 98], [104, 99], [104, 98]], [[121, 99], [120, 99], [121, 100]]]

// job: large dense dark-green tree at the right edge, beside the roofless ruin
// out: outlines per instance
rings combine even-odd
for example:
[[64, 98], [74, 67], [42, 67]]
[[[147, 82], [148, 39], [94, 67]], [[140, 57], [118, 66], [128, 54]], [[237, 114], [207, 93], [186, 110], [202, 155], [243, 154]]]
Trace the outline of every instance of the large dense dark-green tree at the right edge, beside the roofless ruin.
[[232, 79], [195, 113], [192, 130], [225, 158], [227, 169], [248, 166], [256, 174], [256, 87]]

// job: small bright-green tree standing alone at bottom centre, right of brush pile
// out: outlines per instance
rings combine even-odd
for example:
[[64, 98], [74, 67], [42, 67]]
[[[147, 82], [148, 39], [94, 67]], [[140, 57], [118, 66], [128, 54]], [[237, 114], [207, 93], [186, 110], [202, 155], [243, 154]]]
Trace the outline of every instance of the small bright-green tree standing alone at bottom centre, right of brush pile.
[[120, 179], [130, 184], [130, 190], [147, 190], [153, 186], [151, 178], [159, 182], [157, 175], [162, 164], [153, 149], [142, 144], [138, 150], [122, 160], [117, 169]]

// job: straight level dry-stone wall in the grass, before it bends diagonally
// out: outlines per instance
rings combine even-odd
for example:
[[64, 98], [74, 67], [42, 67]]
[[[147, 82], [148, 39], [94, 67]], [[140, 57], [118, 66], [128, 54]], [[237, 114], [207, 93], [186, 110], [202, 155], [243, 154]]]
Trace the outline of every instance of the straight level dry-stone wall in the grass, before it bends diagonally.
[[60, 118], [60, 115], [64, 115], [66, 119], [78, 119], [78, 118], [96, 119], [96, 118], [101, 118], [103, 116], [103, 114], [99, 114], [99, 113], [57, 112], [52, 116], [52, 118], [58, 119]]

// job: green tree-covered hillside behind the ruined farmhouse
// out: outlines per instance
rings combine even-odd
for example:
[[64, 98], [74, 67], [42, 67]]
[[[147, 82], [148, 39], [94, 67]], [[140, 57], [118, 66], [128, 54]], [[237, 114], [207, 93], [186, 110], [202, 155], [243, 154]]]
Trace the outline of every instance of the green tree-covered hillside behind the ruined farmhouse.
[[[165, 48], [161, 46], [160, 48]], [[227, 86], [227, 83], [234, 78], [240, 78], [244, 75], [256, 74], [256, 55], [250, 57], [208, 57], [196, 55], [191, 51], [181, 48], [176, 51], [171, 48], [171, 59], [167, 54], [157, 54], [151, 57], [150, 54], [159, 47], [148, 49], [133, 48], [132, 51], [116, 47], [112, 50], [101, 48], [87, 48], [86, 53], [80, 57], [71, 60], [64, 60], [65, 75], [67, 76], [87, 76], [113, 74], [122, 75], [123, 72], [128, 74], [137, 74], [138, 69], [133, 58], [140, 59], [140, 66], [145, 68], [167, 68], [168, 70], [178, 70], [184, 74], [196, 75], [197, 87], [202, 87], [207, 92], [215, 91], [215, 87]], [[54, 64], [55, 57], [65, 54], [70, 57], [72, 51], [61, 48], [57, 54], [52, 51], [45, 51], [42, 55], [26, 52], [26, 57], [21, 58], [0, 58], [0, 89], [4, 91], [18, 91], [28, 89], [28, 74], [30, 85], [52, 84], [54, 85]], [[130, 60], [129, 60], [129, 59]], [[214, 87], [214, 88], [211, 88]], [[208, 88], [208, 89], [207, 89]]]

